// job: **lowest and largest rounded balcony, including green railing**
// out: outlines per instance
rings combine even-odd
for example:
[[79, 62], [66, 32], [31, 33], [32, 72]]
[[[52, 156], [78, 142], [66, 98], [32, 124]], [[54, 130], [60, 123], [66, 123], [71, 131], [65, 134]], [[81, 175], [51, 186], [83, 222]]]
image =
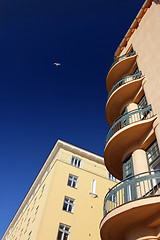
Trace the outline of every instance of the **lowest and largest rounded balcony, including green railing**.
[[146, 227], [158, 226], [159, 208], [160, 170], [119, 182], [104, 199], [104, 218], [100, 224], [102, 240], [126, 239], [128, 230], [143, 226], [144, 220]]

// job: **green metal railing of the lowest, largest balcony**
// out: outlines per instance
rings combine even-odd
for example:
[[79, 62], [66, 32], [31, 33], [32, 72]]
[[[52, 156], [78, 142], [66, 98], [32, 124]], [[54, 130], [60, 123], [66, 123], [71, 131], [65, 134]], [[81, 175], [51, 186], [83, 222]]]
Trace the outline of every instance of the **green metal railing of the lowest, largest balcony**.
[[160, 195], [160, 170], [135, 175], [116, 184], [104, 199], [104, 216], [124, 203]]

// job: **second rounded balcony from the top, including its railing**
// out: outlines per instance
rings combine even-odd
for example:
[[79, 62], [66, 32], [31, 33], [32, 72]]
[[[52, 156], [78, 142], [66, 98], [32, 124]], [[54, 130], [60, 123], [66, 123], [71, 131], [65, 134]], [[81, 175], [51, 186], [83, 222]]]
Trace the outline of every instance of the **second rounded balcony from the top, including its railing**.
[[109, 126], [121, 115], [124, 107], [133, 101], [143, 79], [142, 72], [139, 72], [122, 78], [112, 87], [105, 108]]

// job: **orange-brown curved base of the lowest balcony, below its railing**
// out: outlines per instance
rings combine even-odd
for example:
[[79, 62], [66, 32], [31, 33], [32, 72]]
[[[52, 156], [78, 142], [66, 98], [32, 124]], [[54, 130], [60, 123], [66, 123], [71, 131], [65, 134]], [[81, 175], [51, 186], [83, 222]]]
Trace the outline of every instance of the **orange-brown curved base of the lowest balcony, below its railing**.
[[[160, 224], [160, 197], [148, 197], [126, 203], [109, 212], [101, 221], [102, 240], [125, 240], [136, 227], [157, 227]], [[148, 239], [148, 238], [145, 238]]]

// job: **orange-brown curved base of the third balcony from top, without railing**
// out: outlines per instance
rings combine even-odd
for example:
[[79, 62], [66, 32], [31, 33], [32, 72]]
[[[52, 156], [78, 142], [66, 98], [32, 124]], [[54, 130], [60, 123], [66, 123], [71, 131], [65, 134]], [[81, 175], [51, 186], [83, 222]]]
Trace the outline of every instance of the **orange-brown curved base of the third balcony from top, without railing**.
[[123, 179], [123, 160], [141, 146], [151, 131], [155, 118], [156, 116], [153, 116], [123, 127], [106, 143], [104, 162], [108, 171], [117, 179]]

